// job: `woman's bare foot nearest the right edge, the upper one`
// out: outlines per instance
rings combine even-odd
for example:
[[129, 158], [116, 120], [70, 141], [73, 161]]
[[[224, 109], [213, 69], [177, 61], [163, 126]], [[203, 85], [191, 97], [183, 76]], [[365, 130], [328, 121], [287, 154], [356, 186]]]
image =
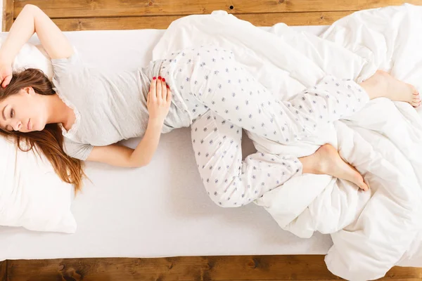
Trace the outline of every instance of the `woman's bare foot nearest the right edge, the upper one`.
[[361, 86], [368, 92], [371, 99], [384, 97], [404, 101], [414, 107], [421, 105], [421, 96], [414, 86], [399, 81], [382, 70], [378, 70], [376, 74], [362, 82]]

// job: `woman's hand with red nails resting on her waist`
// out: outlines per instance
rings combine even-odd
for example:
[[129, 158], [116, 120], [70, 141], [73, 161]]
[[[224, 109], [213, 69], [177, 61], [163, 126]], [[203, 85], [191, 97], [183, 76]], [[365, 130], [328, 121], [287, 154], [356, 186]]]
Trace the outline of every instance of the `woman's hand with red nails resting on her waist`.
[[150, 91], [146, 106], [149, 112], [150, 121], [164, 122], [169, 112], [170, 102], [172, 100], [172, 91], [165, 83], [165, 79], [159, 76], [158, 79], [153, 78], [151, 81]]

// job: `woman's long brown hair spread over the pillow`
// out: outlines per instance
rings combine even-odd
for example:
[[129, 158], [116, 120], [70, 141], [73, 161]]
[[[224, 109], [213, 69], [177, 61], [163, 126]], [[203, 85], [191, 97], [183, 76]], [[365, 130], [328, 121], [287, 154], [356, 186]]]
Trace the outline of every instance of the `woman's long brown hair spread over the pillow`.
[[[29, 68], [23, 72], [13, 74], [10, 84], [3, 89], [0, 86], [0, 100], [18, 93], [25, 87], [32, 87], [39, 95], [55, 95], [53, 84], [44, 72]], [[63, 151], [63, 134], [58, 124], [47, 124], [42, 131], [21, 133], [19, 131], [4, 131], [0, 129], [0, 135], [11, 137], [22, 151], [40, 150], [50, 163], [54, 171], [66, 183], [75, 185], [75, 191], [82, 188], [84, 171], [82, 161], [68, 156]], [[25, 145], [26, 148], [23, 148]]]

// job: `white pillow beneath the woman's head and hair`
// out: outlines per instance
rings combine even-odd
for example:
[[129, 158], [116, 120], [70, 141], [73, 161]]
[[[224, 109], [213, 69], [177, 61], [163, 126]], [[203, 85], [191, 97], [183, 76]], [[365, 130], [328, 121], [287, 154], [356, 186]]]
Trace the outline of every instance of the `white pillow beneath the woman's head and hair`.
[[[13, 63], [13, 70], [28, 67], [43, 70], [49, 78], [53, 74], [46, 53], [32, 44], [25, 44]], [[0, 155], [0, 226], [75, 233], [73, 186], [60, 180], [49, 160], [1, 137]]]

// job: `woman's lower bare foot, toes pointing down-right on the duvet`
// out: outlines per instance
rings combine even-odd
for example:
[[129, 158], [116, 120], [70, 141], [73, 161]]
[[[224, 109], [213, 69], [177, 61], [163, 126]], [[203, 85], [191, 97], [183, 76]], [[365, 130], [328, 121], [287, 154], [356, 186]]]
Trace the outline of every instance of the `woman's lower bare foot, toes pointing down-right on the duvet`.
[[303, 174], [326, 174], [351, 181], [362, 190], [369, 190], [362, 175], [340, 157], [333, 145], [322, 145], [313, 155], [299, 160], [302, 162]]

